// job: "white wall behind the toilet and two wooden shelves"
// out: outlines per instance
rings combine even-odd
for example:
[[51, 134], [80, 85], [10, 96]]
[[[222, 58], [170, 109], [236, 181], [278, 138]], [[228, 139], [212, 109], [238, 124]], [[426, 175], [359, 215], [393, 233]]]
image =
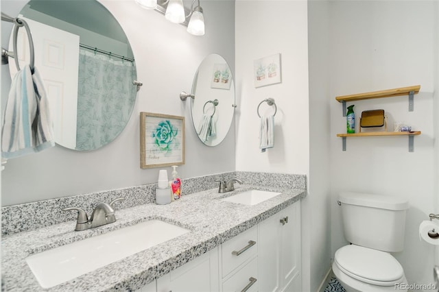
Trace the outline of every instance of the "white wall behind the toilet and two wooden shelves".
[[[434, 49], [438, 49], [435, 17], [438, 14], [437, 10], [436, 15], [434, 12], [434, 1], [330, 3], [332, 253], [346, 244], [336, 204], [340, 191], [406, 198], [410, 210], [405, 249], [397, 253], [396, 258], [403, 265], [409, 282], [417, 284], [432, 282], [433, 250], [419, 241], [418, 226], [434, 209], [434, 182], [437, 183], [433, 159], [433, 96], [436, 90], [437, 99], [438, 90], [435, 88], [438, 75], [434, 75], [435, 70], [437, 74]], [[336, 134], [346, 132], [346, 118], [342, 117], [342, 106], [335, 101], [335, 96], [415, 84], [421, 88], [414, 98], [414, 112], [407, 111], [407, 97], [352, 103], [357, 117], [362, 110], [383, 108], [397, 121], [422, 131], [414, 138], [413, 153], [408, 152], [406, 137], [348, 138], [347, 149], [342, 151], [342, 138]], [[436, 146], [436, 152], [437, 149]]]

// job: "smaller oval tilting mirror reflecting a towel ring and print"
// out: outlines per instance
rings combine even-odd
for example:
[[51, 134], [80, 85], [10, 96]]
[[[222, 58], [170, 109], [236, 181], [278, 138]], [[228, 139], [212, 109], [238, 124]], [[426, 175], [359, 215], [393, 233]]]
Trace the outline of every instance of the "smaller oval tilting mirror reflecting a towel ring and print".
[[235, 112], [235, 84], [226, 60], [207, 56], [193, 78], [191, 114], [193, 127], [204, 145], [221, 143]]

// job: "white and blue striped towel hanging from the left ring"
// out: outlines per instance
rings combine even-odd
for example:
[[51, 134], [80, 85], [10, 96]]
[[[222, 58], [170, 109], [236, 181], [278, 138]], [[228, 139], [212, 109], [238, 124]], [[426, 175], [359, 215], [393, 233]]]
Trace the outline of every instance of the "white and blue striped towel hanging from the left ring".
[[47, 94], [35, 68], [31, 73], [29, 65], [25, 65], [14, 76], [3, 117], [3, 158], [16, 158], [55, 145]]

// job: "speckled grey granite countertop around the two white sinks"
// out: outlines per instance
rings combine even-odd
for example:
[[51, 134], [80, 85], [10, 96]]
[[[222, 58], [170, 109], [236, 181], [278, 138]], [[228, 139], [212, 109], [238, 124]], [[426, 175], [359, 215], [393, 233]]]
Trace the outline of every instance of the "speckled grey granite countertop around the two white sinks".
[[[235, 184], [235, 191], [220, 194], [217, 188], [184, 195], [168, 205], [143, 204], [116, 210], [115, 223], [76, 232], [75, 221], [3, 236], [1, 245], [2, 291], [135, 291], [193, 258], [208, 252], [276, 212], [305, 197], [301, 189], [281, 189]], [[281, 192], [254, 206], [220, 199], [248, 189]], [[25, 258], [60, 245], [103, 234], [150, 219], [161, 219], [191, 230], [78, 278], [43, 289]]]

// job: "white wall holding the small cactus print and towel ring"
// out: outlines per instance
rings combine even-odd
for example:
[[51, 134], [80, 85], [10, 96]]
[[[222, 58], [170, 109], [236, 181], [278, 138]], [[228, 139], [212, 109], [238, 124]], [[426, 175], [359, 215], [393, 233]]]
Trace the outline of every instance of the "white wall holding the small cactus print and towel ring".
[[[236, 169], [309, 175], [307, 1], [245, 1], [235, 6]], [[253, 61], [281, 53], [282, 83], [254, 88]], [[257, 106], [276, 101], [274, 148], [259, 149]], [[261, 113], [269, 110], [261, 105]], [[308, 232], [309, 203], [302, 202]], [[309, 287], [309, 236], [302, 234], [303, 291]]]

